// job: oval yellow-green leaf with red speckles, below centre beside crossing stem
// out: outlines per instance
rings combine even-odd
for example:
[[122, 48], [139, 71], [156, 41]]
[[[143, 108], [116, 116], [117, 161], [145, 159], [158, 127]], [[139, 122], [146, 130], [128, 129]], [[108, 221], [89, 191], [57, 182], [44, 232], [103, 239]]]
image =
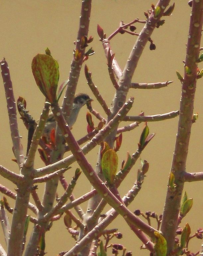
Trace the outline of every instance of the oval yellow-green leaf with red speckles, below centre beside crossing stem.
[[106, 181], [113, 185], [118, 168], [118, 156], [113, 149], [109, 149], [103, 154], [101, 167]]

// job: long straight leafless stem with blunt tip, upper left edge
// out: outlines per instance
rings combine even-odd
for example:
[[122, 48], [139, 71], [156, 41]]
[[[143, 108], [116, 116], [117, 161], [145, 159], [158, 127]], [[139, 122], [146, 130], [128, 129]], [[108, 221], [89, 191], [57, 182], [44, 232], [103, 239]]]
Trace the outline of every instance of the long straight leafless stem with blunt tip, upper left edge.
[[0, 61], [1, 75], [4, 82], [4, 89], [6, 94], [7, 109], [9, 116], [9, 124], [11, 130], [11, 138], [13, 142], [13, 151], [16, 157], [19, 167], [22, 167], [24, 161], [23, 146], [20, 141], [20, 135], [18, 131], [17, 113], [16, 113], [16, 102], [13, 93], [13, 85], [11, 82], [10, 71], [8, 63], [5, 58]]

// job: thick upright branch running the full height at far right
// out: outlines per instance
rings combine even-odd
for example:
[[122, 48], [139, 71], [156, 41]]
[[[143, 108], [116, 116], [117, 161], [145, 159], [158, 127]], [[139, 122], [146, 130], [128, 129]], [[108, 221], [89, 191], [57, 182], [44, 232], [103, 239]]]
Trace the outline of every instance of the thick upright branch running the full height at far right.
[[184, 182], [181, 181], [180, 178], [181, 174], [185, 172], [186, 169], [186, 159], [192, 126], [194, 95], [197, 80], [197, 59], [199, 57], [202, 31], [202, 9], [202, 1], [192, 1], [178, 131], [171, 166], [171, 172], [174, 175], [174, 184], [176, 187], [174, 190], [171, 190], [170, 186], [168, 186], [161, 225], [161, 231], [167, 242], [167, 254], [173, 250], [181, 195], [184, 186]]

